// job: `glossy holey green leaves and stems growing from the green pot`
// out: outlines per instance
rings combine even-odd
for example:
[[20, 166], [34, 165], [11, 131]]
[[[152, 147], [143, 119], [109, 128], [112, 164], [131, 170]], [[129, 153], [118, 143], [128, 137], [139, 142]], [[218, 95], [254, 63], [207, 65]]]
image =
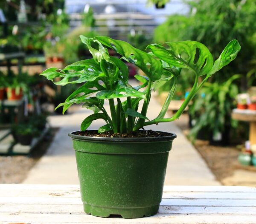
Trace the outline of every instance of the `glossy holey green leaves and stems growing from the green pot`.
[[[104, 119], [106, 125], [99, 128], [99, 132], [112, 130], [113, 133], [126, 133], [137, 131], [147, 125], [178, 119], [204, 82], [234, 60], [241, 49], [238, 41], [233, 40], [213, 63], [208, 48], [195, 41], [152, 44], [148, 46], [151, 52], [146, 53], [124, 41], [109, 37], [80, 37], [92, 54], [92, 59], [75, 62], [62, 70], [49, 68], [41, 75], [52, 80], [56, 85], [84, 83], [58, 107], [63, 106], [64, 113], [74, 103], [83, 103], [83, 107], [93, 110], [94, 114], [84, 119], [81, 130], [86, 130], [96, 119]], [[123, 60], [133, 63], [145, 73], [146, 77], [135, 76], [142, 85], [132, 87], [128, 84], [127, 65], [122, 59], [110, 56], [104, 46], [112, 48], [122, 56]], [[176, 90], [177, 77], [183, 69], [193, 72], [194, 85], [177, 113], [170, 118], [164, 118]], [[201, 81], [200, 77], [203, 76], [204, 79]], [[56, 77], [61, 80], [55, 82]], [[146, 114], [152, 88], [161, 86], [170, 79], [173, 79], [173, 85], [162, 110], [155, 119], [148, 120]], [[144, 87], [145, 90], [140, 91]], [[92, 94], [96, 96], [91, 96]], [[126, 100], [122, 102], [120, 98]], [[109, 102], [110, 114], [104, 107], [105, 100]], [[141, 100], [143, 106], [138, 112]]]

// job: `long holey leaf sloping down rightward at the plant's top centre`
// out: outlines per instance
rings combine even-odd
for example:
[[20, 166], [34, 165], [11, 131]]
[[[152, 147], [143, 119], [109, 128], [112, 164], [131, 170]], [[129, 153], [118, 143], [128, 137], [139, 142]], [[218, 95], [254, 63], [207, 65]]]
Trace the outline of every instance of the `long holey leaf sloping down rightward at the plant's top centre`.
[[126, 60], [137, 65], [152, 81], [161, 77], [163, 70], [162, 64], [152, 55], [134, 48], [132, 45], [122, 40], [113, 40], [110, 37], [94, 37], [93, 39], [112, 48]]

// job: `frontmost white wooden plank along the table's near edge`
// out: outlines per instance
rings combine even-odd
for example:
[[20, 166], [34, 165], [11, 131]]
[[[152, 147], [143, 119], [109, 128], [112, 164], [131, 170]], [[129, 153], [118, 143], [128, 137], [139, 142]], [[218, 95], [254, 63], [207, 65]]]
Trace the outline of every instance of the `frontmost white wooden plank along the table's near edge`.
[[169, 215], [157, 214], [146, 218], [99, 218], [92, 215], [72, 214], [2, 214], [0, 221], [3, 224], [26, 223], [26, 224], [113, 224], [113, 223], [137, 223], [137, 224], [253, 224], [256, 215]]

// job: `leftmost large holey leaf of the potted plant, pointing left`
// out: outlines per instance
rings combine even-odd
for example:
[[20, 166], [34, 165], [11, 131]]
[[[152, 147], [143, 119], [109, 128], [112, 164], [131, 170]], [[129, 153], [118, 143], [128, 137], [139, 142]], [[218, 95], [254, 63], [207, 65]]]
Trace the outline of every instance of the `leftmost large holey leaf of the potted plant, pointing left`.
[[[41, 73], [44, 77], [54, 82], [56, 85], [67, 85], [68, 83], [91, 82], [103, 76], [102, 71], [93, 59], [82, 60], [68, 65], [63, 70], [48, 68]], [[61, 80], [55, 82], [55, 78]]]

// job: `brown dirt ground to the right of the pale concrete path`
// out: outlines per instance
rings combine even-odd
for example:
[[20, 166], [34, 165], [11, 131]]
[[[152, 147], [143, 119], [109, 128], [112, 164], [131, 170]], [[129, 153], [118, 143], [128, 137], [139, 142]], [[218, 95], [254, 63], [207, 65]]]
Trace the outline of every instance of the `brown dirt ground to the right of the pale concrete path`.
[[[183, 114], [175, 124], [183, 130], [187, 135], [189, 133], [189, 119], [187, 114]], [[241, 152], [241, 145], [231, 145], [228, 147], [212, 146], [209, 141], [196, 140], [194, 142], [195, 148], [206, 161], [208, 167], [215, 175], [216, 179], [225, 185], [223, 181], [226, 177], [232, 176], [236, 170], [255, 171], [256, 167], [243, 166], [238, 162], [238, 156]], [[241, 184], [246, 186], [247, 183]]]

